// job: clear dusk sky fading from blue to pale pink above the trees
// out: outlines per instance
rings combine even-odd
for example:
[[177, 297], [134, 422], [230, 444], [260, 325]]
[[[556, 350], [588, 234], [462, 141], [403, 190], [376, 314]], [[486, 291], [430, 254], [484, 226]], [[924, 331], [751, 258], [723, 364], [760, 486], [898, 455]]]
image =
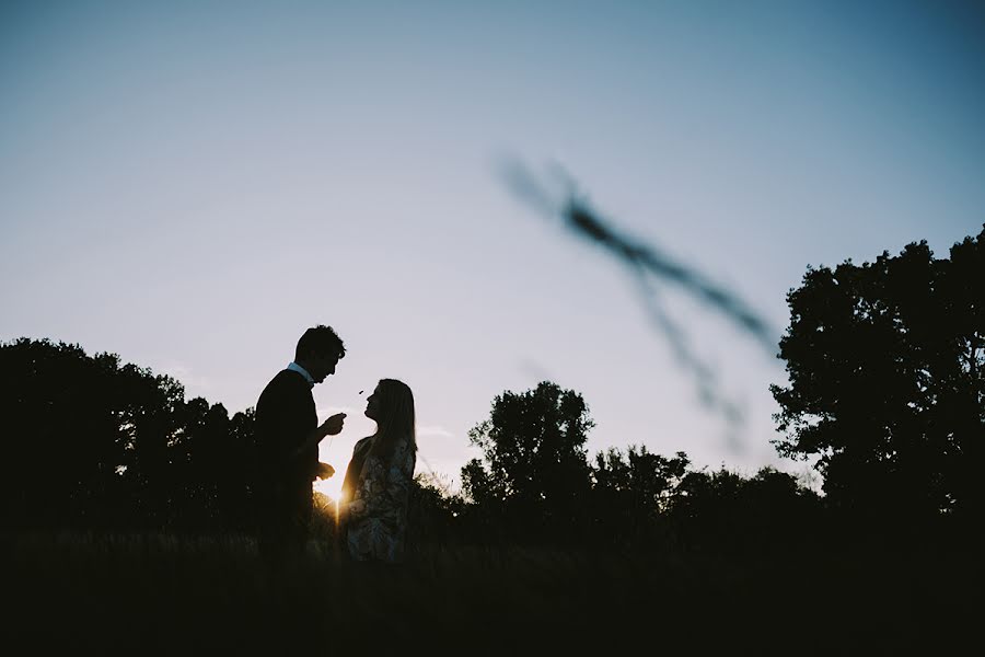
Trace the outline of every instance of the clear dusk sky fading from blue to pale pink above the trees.
[[505, 163], [563, 168], [779, 339], [809, 265], [981, 231], [983, 36], [958, 1], [8, 0], [0, 341], [118, 354], [234, 413], [332, 325], [339, 471], [398, 378], [418, 472], [453, 487], [493, 399], [542, 380], [584, 396], [590, 454], [802, 473], [769, 442], [776, 350], [653, 279], [742, 420], [709, 412], [625, 267]]

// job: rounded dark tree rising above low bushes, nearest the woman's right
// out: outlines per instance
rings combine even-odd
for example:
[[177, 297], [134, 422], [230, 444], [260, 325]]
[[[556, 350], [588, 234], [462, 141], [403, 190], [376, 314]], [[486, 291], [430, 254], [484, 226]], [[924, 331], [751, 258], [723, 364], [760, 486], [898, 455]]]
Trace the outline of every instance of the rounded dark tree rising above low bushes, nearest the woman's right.
[[591, 487], [584, 442], [593, 426], [581, 395], [556, 383], [506, 391], [468, 433], [484, 457], [462, 469], [463, 489], [528, 535], [570, 532]]

